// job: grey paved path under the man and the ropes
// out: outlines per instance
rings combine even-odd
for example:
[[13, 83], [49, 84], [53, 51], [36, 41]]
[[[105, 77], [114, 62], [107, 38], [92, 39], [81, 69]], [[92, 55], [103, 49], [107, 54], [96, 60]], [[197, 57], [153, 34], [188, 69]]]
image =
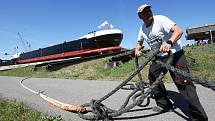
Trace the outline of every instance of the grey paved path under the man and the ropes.
[[[19, 82], [23, 78], [20, 77], [1, 77], [0, 76], [0, 96], [7, 99], [16, 99], [33, 107], [34, 109], [48, 113], [53, 116], [61, 115], [66, 121], [83, 121], [75, 113], [70, 113], [58, 109], [38, 95], [35, 95], [25, 88]], [[67, 79], [48, 79], [48, 78], [31, 78], [26, 80], [24, 84], [36, 91], [45, 91], [45, 93], [59, 101], [81, 105], [89, 102], [91, 99], [99, 99], [113, 88], [119, 81], [87, 81], [87, 80], [67, 80]], [[136, 107], [131, 112], [125, 113], [116, 120], [121, 121], [186, 121], [187, 120], [187, 105], [181, 98], [174, 84], [165, 84], [174, 105], [177, 106], [175, 112], [163, 114], [155, 114], [151, 111], [151, 107], [155, 106], [154, 100], [148, 107]], [[208, 114], [209, 121], [215, 120], [215, 92], [196, 85], [200, 101]], [[119, 91], [107, 101], [103, 102], [106, 106], [112, 109], [118, 109], [125, 100], [129, 91]]]

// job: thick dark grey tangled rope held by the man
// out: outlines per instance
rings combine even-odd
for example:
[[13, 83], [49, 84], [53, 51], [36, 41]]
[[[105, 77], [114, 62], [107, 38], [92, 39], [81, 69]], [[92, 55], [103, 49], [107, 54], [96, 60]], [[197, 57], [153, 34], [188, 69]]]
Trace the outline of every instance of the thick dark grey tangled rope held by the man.
[[[158, 52], [155, 52], [155, 53], [158, 53]], [[152, 54], [152, 56], [150, 56], [144, 64], [142, 64], [139, 68], [136, 69], [135, 72], [133, 72], [125, 81], [123, 81], [118, 87], [116, 87], [113, 91], [111, 91], [110, 93], [108, 93], [107, 95], [105, 95], [104, 97], [100, 98], [98, 101], [96, 101], [98, 103], [98, 105], [102, 105], [104, 107], [104, 105], [101, 103], [103, 100], [107, 99], [108, 97], [110, 97], [112, 94], [114, 94], [116, 91], [118, 91], [119, 89], [126, 89], [126, 90], [133, 90], [133, 92], [131, 92], [131, 94], [128, 95], [127, 97], [127, 100], [125, 101], [125, 103], [120, 107], [119, 110], [114, 110], [114, 111], [110, 111], [109, 110], [106, 110], [105, 108], [102, 108], [103, 111], [106, 111], [105, 115], [97, 115], [97, 114], [93, 114], [93, 115], [83, 115], [81, 113], [79, 113], [79, 116], [85, 120], [98, 120], [98, 119], [113, 119], [114, 117], [117, 117], [117, 116], [120, 116], [121, 114], [123, 113], [126, 113], [128, 112], [129, 110], [131, 110], [132, 108], [134, 108], [135, 106], [141, 106], [141, 104], [143, 103], [144, 99], [147, 98], [152, 90], [159, 84], [159, 82], [162, 80], [162, 78], [164, 77], [164, 73], [161, 73], [160, 76], [157, 78], [157, 80], [151, 85], [148, 87], [148, 90], [147, 91], [144, 91], [145, 88], [147, 87], [144, 87], [145, 86], [145, 83], [142, 83], [142, 85], [134, 85], [134, 84], [127, 84], [135, 75], [137, 75], [138, 73], [140, 73], [140, 71], [147, 65], [147, 63], [149, 61], [151, 61], [153, 59], [153, 57], [156, 55], [155, 53]], [[167, 61], [167, 63], [163, 63], [161, 61], [156, 61], [157, 63], [160, 63], [162, 66], [166, 67], [168, 70], [171, 70], [173, 72], [176, 72], [176, 73], [179, 73], [181, 74], [182, 76], [185, 76], [185, 77], [188, 77], [188, 78], [191, 78], [193, 81], [195, 81], [196, 83], [198, 84], [201, 84], [202, 86], [204, 87], [207, 87], [207, 88], [210, 88], [212, 90], [214, 90], [215, 88], [215, 84], [212, 83], [212, 82], [209, 82], [209, 81], [206, 81], [206, 80], [202, 80], [202, 79], [199, 79], [197, 77], [193, 77], [191, 76], [189, 73], [185, 72], [185, 71], [182, 71], [180, 69], [177, 69], [173, 66], [170, 65], [172, 61], [172, 58], [169, 58], [169, 60]], [[136, 61], [135, 63], [138, 64], [138, 62]], [[141, 76], [141, 75], [138, 75], [138, 76]], [[140, 82], [142, 82], [141, 78], [140, 79]], [[125, 87], [127, 84], [130, 85], [130, 88], [129, 87]], [[144, 91], [143, 93], [137, 93], [138, 91]], [[133, 96], [133, 103], [130, 104], [129, 106], [126, 106], [129, 102], [129, 99]], [[139, 98], [138, 98], [139, 97]], [[149, 104], [149, 97], [147, 98], [147, 104]], [[145, 105], [144, 105], [145, 106]], [[109, 111], [109, 113], [107, 113]], [[105, 118], [104, 118], [105, 117]], [[108, 117], [108, 118], [107, 118]]]

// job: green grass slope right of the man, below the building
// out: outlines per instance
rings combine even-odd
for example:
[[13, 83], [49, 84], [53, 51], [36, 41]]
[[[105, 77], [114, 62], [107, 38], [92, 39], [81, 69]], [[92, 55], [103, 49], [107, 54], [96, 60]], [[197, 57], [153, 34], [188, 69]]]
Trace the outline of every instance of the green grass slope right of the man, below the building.
[[186, 55], [194, 58], [196, 62], [189, 61], [191, 73], [197, 77], [215, 82], [215, 44], [192, 46], [185, 50]]

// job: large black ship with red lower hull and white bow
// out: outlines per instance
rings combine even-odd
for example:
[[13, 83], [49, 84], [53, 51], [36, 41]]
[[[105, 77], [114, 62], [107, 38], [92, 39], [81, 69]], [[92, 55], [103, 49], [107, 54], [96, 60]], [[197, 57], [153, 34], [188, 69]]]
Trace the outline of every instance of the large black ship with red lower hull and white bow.
[[112, 53], [121, 51], [122, 39], [123, 33], [119, 29], [93, 31], [75, 40], [21, 53], [13, 60], [16, 64], [22, 64]]

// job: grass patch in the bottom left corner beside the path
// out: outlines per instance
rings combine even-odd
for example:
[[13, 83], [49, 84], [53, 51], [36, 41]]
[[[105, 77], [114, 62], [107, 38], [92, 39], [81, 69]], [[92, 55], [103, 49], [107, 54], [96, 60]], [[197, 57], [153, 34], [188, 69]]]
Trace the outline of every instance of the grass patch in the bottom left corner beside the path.
[[34, 111], [17, 101], [5, 101], [0, 98], [0, 121], [62, 121]]

